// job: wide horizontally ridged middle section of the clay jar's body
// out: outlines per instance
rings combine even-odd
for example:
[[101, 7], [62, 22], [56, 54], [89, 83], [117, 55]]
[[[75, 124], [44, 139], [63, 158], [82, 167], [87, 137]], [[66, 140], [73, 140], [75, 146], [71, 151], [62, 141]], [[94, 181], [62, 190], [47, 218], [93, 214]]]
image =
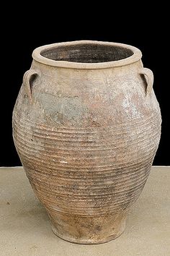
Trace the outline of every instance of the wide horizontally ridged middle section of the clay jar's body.
[[[52, 127], [14, 114], [27, 177], [54, 213], [102, 216], [137, 200], [160, 137], [158, 116], [112, 127]], [[148, 150], [149, 148], [149, 150]]]

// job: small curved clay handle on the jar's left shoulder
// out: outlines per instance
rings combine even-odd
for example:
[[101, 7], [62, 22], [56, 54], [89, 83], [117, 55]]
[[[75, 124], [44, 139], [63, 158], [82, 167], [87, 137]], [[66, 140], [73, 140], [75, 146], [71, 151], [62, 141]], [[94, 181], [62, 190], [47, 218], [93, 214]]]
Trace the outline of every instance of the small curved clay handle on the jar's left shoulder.
[[[34, 69], [30, 69], [30, 70], [27, 70], [25, 73], [24, 73], [24, 76], [23, 76], [23, 85], [24, 85], [24, 90], [25, 90], [25, 93], [27, 94], [27, 97], [29, 98], [30, 100], [30, 103], [32, 102], [32, 85], [31, 85], [31, 80], [33, 79], [33, 77], [35, 75], [37, 75], [38, 72], [35, 71]], [[33, 81], [32, 81], [33, 82]]]

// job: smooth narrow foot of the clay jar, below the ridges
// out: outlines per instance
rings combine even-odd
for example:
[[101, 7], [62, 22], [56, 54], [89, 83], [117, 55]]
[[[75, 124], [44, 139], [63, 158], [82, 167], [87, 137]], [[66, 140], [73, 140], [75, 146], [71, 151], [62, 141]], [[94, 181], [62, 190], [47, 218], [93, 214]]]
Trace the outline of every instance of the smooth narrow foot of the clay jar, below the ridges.
[[55, 220], [50, 216], [54, 234], [75, 244], [103, 244], [116, 239], [125, 230], [125, 215], [93, 218], [71, 216], [69, 222], [67, 220], [66, 216], [55, 216]]

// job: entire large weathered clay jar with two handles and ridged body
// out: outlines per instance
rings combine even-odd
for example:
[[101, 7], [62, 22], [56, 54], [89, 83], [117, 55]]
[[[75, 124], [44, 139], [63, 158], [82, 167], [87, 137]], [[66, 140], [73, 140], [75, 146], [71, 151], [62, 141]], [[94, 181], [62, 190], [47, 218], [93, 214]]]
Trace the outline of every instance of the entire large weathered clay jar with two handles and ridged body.
[[14, 143], [61, 238], [99, 244], [124, 231], [160, 140], [152, 87], [133, 46], [76, 41], [33, 52], [14, 106]]

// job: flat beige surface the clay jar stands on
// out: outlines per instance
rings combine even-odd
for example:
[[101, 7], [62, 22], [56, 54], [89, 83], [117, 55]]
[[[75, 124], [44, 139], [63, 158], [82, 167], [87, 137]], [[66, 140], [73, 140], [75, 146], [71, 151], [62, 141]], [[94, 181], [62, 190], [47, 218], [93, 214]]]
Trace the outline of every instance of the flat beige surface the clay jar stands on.
[[125, 232], [97, 245], [71, 244], [55, 236], [23, 168], [0, 168], [0, 255], [169, 256], [170, 167], [152, 167]]

